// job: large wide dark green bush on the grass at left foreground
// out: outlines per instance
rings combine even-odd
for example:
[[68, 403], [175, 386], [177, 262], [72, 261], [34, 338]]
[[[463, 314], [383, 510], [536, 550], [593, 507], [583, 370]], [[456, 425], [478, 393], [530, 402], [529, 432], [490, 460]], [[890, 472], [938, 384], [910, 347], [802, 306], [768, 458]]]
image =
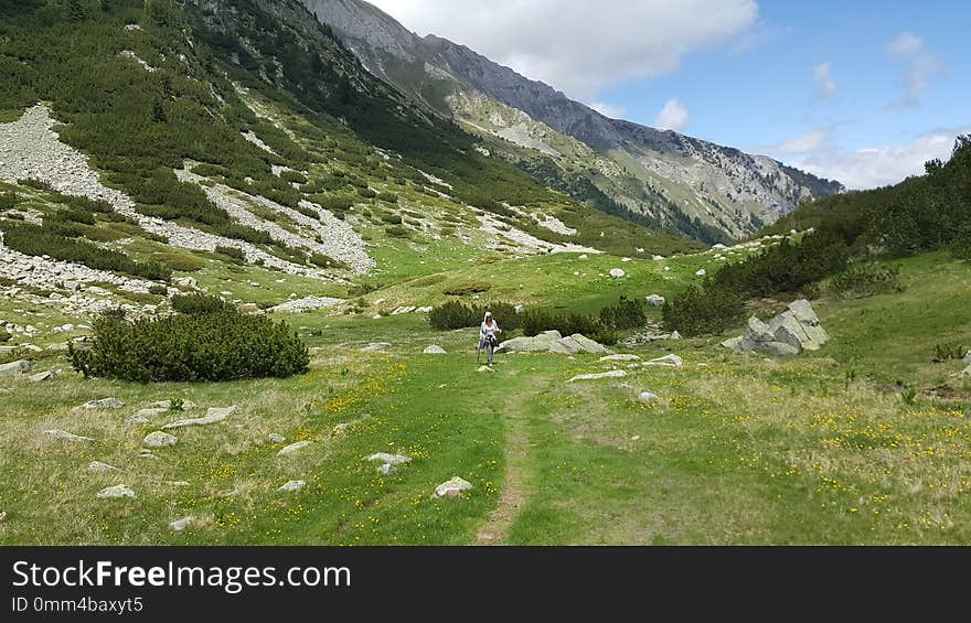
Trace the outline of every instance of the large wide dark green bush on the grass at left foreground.
[[307, 372], [307, 346], [285, 322], [235, 311], [129, 321], [105, 315], [94, 345], [68, 354], [85, 377], [150, 382], [284, 378]]

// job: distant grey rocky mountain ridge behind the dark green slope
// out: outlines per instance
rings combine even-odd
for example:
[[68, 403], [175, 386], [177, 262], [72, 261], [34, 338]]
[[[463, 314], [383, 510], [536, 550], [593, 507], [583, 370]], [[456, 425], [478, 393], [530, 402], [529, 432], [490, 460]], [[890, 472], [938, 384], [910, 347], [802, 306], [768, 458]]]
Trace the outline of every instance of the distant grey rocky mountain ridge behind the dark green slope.
[[420, 37], [362, 0], [302, 1], [374, 75], [601, 210], [715, 241], [845, 190], [767, 157], [609, 119], [466, 46]]

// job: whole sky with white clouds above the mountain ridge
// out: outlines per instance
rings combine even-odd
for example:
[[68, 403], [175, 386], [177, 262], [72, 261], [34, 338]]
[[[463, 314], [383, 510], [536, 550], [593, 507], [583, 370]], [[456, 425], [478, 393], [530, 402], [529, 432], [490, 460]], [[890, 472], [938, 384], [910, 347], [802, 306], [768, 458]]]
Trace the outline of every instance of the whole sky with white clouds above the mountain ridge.
[[371, 0], [605, 115], [893, 184], [971, 133], [968, 0]]

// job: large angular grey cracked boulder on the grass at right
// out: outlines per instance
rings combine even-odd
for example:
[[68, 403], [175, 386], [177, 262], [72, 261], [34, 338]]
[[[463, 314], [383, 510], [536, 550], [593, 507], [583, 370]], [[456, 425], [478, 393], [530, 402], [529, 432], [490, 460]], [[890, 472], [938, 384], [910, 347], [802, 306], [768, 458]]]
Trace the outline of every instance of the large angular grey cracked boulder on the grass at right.
[[812, 305], [801, 300], [791, 303], [768, 323], [750, 318], [745, 335], [726, 340], [722, 345], [739, 354], [758, 352], [786, 357], [818, 351], [829, 339]]

